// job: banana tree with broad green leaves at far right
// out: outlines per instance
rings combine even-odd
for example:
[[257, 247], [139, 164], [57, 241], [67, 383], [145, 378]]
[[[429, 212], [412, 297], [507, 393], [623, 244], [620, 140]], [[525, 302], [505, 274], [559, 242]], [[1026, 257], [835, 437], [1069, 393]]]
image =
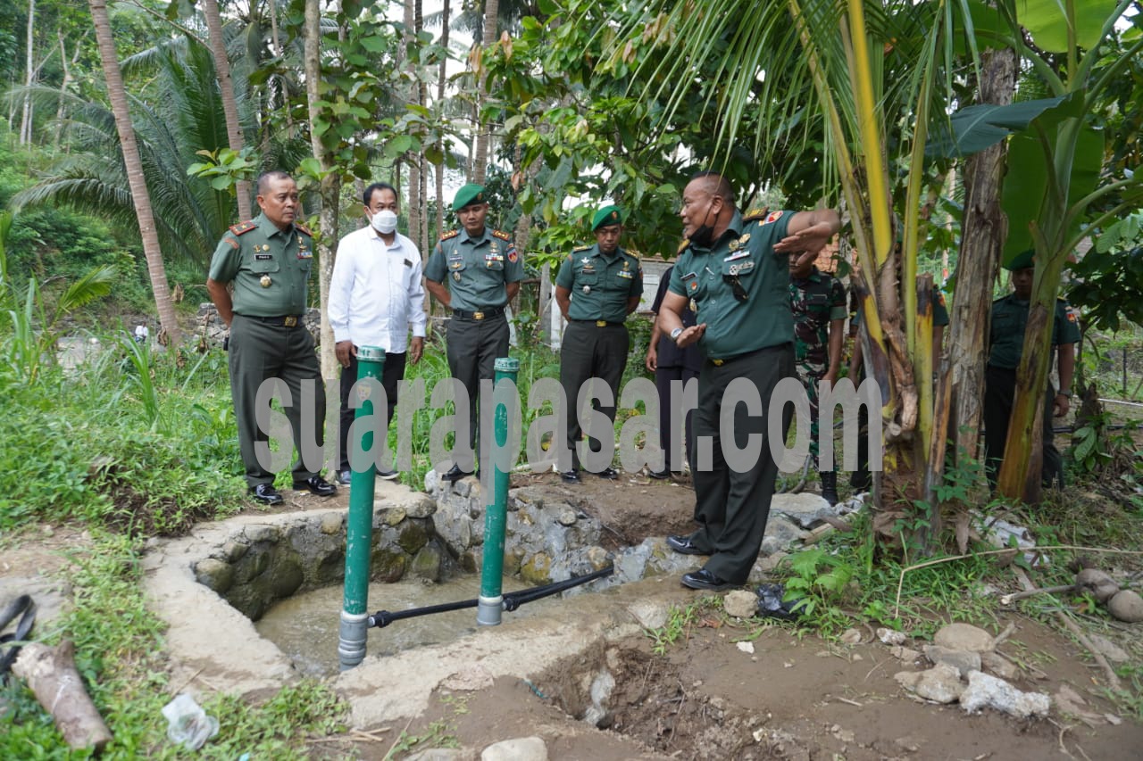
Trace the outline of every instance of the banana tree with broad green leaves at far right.
[[[1124, 34], [1118, 59], [1096, 66], [1119, 35], [1117, 22], [1130, 7], [1130, 0], [1066, 0], [1063, 13], [1049, 0], [1016, 6], [1010, 40], [1061, 102], [1037, 119], [1033, 129], [1013, 139], [1005, 185], [1004, 206], [1009, 218], [1006, 257], [1036, 249], [1028, 329], [998, 483], [1002, 494], [1025, 502], [1040, 497], [1044, 422], [1039, 410], [1064, 263], [1084, 238], [1138, 208], [1143, 200], [1137, 174], [1103, 176], [1104, 136], [1093, 119], [1109, 86], [1143, 50], [1143, 35], [1130, 30]], [[1018, 27], [1029, 32], [1033, 45]], [[1094, 208], [1100, 210], [1092, 218], [1089, 210]]]

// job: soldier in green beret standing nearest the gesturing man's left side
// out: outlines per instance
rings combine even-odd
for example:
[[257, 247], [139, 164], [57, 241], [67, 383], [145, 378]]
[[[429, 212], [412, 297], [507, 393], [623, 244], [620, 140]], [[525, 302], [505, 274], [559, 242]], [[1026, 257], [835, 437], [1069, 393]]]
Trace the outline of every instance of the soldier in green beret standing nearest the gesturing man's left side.
[[[612, 403], [592, 400], [610, 422], [606, 435], [614, 442], [615, 408], [620, 380], [628, 366], [631, 342], [623, 325], [639, 306], [642, 296], [642, 267], [639, 259], [620, 247], [623, 213], [617, 206], [605, 206], [591, 221], [594, 246], [581, 246], [568, 254], [555, 277], [555, 303], [568, 327], [560, 345], [560, 384], [567, 401], [567, 443], [572, 450], [572, 467], [563, 471], [565, 481], [580, 481], [578, 420], [580, 390], [592, 378], [600, 378], [612, 390]], [[599, 432], [604, 435], [605, 432]], [[597, 442], [598, 446], [593, 446]], [[591, 451], [610, 451], [598, 435], [589, 432]], [[597, 473], [614, 479], [618, 473], [608, 464]]]

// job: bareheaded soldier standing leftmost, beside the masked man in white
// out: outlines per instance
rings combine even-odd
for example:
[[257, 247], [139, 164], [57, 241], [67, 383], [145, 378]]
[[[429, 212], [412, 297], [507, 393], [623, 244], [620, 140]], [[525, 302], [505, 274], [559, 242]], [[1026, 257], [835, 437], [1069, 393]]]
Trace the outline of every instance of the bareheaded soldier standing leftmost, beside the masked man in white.
[[[258, 177], [258, 206], [262, 214], [223, 235], [210, 259], [207, 291], [230, 328], [230, 387], [246, 481], [255, 499], [275, 505], [282, 496], [274, 489], [274, 474], [259, 462], [259, 449], [269, 457], [269, 436], [255, 409], [258, 388], [271, 378], [281, 379], [290, 394], [290, 403], [282, 406], [298, 451], [294, 488], [322, 497], [337, 489], [320, 475], [326, 386], [313, 336], [303, 322], [313, 235], [294, 222], [297, 185], [285, 171]], [[313, 395], [313, 419], [303, 426], [302, 412], [310, 409], [305, 394]]]

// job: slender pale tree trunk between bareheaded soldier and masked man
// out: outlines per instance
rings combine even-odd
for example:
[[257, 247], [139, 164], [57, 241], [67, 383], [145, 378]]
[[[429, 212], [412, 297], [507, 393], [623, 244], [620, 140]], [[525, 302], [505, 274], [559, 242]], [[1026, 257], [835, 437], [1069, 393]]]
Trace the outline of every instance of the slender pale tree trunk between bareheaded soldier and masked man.
[[[319, 0], [305, 0], [305, 91], [310, 110], [310, 122], [318, 120], [318, 101], [321, 99], [321, 10]], [[318, 230], [318, 293], [321, 309], [321, 377], [337, 377], [337, 360], [334, 354], [334, 329], [329, 326], [329, 280], [334, 272], [334, 256], [337, 253], [337, 195], [341, 177], [331, 171], [333, 161], [321, 138], [310, 130], [310, 145], [323, 173], [321, 179], [321, 222]], [[336, 409], [336, 404], [331, 404]]]

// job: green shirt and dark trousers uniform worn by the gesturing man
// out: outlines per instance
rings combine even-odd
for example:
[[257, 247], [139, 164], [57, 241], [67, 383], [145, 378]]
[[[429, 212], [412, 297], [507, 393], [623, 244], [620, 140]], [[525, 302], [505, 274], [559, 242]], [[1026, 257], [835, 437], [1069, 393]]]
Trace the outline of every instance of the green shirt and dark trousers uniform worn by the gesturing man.
[[[690, 298], [695, 319], [706, 323], [698, 344], [706, 362], [698, 375], [695, 436], [700, 442], [710, 439], [712, 460], [708, 470], [700, 457], [694, 474], [700, 529], [690, 543], [710, 553], [705, 570], [733, 584], [746, 580], [758, 558], [774, 495], [777, 464], [766, 424], [770, 399], [780, 380], [796, 375], [789, 257], [774, 251], [793, 214], [735, 211], [711, 248], [685, 242], [671, 273], [671, 291]], [[761, 415], [734, 406], [734, 446], [744, 449], [750, 435], [761, 439], [759, 456], [745, 470], [730, 467], [720, 439], [722, 395], [737, 378], [752, 383], [762, 402]], [[790, 406], [780, 414], [784, 443]], [[700, 452], [703, 449], [700, 443]]]

